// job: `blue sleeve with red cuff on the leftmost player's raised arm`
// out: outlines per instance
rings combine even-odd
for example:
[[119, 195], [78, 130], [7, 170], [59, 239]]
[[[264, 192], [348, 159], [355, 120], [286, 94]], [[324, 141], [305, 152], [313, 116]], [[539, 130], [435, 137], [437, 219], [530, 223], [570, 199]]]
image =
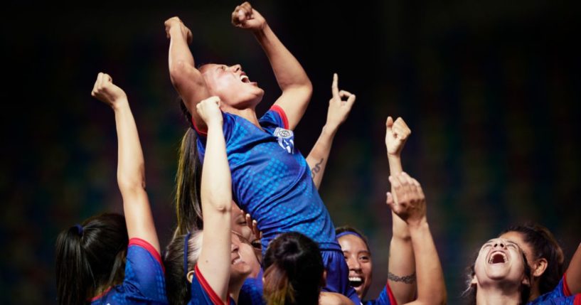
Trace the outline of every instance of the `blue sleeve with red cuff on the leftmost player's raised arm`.
[[129, 240], [123, 286], [135, 299], [166, 303], [164, 265], [155, 248], [140, 238]]

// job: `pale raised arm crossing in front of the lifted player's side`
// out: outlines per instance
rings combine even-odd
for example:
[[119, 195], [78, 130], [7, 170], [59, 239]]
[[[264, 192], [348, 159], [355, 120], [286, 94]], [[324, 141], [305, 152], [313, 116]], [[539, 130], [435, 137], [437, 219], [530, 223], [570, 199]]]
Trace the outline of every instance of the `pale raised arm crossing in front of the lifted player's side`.
[[198, 114], [208, 126], [201, 182], [204, 230], [198, 268], [220, 299], [226, 300], [232, 245], [232, 178], [219, 107], [218, 97], [210, 97], [197, 105]]

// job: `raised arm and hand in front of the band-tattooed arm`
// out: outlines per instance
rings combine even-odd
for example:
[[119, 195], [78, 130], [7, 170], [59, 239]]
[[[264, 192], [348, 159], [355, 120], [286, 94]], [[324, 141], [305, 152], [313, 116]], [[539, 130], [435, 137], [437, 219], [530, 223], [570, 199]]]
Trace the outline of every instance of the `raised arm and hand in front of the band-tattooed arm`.
[[417, 270], [417, 299], [408, 304], [445, 304], [444, 274], [427, 223], [422, 187], [407, 173], [390, 176], [390, 183], [393, 195], [388, 193], [387, 203], [407, 223]]

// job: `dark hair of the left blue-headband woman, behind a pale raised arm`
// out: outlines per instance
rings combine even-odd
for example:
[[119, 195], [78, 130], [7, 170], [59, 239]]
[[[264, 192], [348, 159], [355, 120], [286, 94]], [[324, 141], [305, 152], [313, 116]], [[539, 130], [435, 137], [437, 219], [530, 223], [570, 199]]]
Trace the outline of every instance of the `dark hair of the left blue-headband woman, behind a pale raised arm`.
[[188, 272], [193, 269], [201, 252], [201, 230], [190, 235], [174, 235], [166, 247], [164, 267], [166, 268], [166, 294], [169, 304], [186, 304], [191, 298], [191, 284], [188, 283], [187, 272], [183, 266], [183, 252], [186, 236], [188, 238]]

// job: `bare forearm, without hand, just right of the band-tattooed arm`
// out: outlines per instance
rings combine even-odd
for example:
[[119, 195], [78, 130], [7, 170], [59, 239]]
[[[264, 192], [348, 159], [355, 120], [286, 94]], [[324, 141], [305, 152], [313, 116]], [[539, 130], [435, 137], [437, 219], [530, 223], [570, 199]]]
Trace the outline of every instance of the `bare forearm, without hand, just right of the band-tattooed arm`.
[[444, 274], [427, 220], [409, 228], [417, 270], [417, 303], [445, 304]]

